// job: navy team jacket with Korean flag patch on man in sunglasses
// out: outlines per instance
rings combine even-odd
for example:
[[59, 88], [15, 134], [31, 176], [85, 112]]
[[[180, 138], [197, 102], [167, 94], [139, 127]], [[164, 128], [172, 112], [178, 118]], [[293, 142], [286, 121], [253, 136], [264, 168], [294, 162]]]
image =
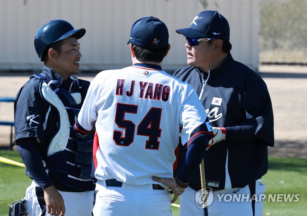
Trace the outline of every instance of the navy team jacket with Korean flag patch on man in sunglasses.
[[[267, 146], [274, 146], [274, 120], [270, 95], [262, 78], [235, 61], [230, 53], [220, 67], [209, 73], [188, 66], [175, 71], [173, 76], [195, 88], [212, 127], [227, 129], [226, 140], [205, 153], [207, 187], [213, 190], [245, 187], [266, 174]], [[185, 149], [179, 149], [179, 169], [184, 154]], [[199, 169], [190, 187], [201, 189]]]

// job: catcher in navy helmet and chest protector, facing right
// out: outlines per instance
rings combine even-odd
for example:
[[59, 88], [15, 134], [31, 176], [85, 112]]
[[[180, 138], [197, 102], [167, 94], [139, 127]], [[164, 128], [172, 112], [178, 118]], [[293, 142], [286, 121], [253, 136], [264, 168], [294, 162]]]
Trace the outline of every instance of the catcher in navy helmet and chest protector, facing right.
[[14, 102], [15, 140], [33, 181], [27, 188], [28, 216], [90, 216], [95, 184], [91, 179], [92, 136], [81, 137], [72, 128], [89, 82], [79, 72], [78, 39], [85, 29], [64, 20], [43, 25], [34, 39], [44, 62]]

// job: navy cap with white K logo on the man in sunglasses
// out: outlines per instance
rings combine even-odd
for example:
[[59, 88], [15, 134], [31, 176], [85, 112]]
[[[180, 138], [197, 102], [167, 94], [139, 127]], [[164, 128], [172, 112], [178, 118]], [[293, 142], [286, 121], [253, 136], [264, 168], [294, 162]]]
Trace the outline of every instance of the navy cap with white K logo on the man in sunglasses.
[[213, 37], [229, 41], [230, 28], [227, 19], [219, 12], [206, 10], [194, 17], [189, 28], [176, 29], [176, 32], [191, 39]]

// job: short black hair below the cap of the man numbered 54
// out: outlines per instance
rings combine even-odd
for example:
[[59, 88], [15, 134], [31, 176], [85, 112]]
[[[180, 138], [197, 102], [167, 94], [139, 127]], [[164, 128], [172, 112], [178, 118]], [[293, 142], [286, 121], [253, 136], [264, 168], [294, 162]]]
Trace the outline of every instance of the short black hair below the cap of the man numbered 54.
[[160, 48], [160, 49], [147, 49], [142, 48], [140, 46], [132, 44], [135, 58], [140, 62], [152, 61], [160, 63], [162, 62], [168, 47]]

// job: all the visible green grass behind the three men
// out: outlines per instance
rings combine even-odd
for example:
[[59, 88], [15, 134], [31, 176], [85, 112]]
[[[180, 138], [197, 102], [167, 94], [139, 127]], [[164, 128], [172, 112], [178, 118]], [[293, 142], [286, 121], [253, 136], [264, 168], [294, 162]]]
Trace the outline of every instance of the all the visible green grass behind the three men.
[[[18, 152], [0, 150], [0, 156], [22, 162]], [[269, 157], [269, 171], [263, 177], [266, 185], [263, 216], [306, 215], [307, 159]], [[10, 204], [25, 196], [31, 180], [25, 169], [0, 162], [0, 216], [7, 216]], [[298, 202], [268, 202], [269, 194], [300, 194]], [[179, 199], [176, 204], [179, 205]], [[172, 206], [173, 216], [179, 216], [179, 208]]]

